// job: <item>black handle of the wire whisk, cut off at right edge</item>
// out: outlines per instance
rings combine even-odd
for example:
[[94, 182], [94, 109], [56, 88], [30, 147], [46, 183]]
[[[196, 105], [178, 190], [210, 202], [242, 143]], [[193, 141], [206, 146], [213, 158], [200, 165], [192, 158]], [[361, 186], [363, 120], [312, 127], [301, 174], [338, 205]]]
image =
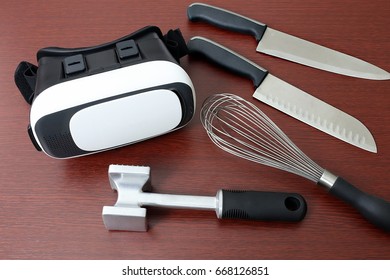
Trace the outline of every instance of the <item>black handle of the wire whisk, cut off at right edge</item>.
[[390, 232], [390, 202], [359, 190], [341, 177], [329, 192], [352, 205], [377, 227]]

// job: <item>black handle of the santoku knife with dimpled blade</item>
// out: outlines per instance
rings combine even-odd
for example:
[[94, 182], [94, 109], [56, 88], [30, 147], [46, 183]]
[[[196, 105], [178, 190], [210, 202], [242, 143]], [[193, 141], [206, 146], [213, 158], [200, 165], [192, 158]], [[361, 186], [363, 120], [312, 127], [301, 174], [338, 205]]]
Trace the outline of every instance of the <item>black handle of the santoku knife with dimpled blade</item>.
[[268, 71], [241, 55], [203, 37], [193, 37], [187, 44], [190, 54], [201, 54], [215, 64], [238, 75], [250, 78], [257, 88]]

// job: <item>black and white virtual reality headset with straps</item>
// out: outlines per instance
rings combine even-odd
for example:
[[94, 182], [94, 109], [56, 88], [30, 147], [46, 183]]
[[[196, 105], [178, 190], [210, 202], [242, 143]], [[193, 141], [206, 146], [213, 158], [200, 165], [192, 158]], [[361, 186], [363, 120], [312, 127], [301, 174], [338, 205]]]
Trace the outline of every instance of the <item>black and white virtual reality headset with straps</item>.
[[31, 104], [28, 134], [53, 158], [136, 143], [185, 126], [195, 91], [179, 65], [179, 30], [145, 27], [95, 47], [44, 48], [38, 66], [21, 62], [15, 83]]

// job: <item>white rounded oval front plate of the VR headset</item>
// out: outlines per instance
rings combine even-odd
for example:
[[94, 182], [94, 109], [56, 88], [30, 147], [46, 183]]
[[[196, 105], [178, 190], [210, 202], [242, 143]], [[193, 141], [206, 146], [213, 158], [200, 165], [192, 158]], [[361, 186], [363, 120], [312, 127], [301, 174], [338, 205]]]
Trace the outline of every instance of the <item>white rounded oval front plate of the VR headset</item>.
[[70, 132], [80, 149], [97, 151], [164, 134], [182, 114], [178, 96], [159, 89], [82, 109], [71, 118]]

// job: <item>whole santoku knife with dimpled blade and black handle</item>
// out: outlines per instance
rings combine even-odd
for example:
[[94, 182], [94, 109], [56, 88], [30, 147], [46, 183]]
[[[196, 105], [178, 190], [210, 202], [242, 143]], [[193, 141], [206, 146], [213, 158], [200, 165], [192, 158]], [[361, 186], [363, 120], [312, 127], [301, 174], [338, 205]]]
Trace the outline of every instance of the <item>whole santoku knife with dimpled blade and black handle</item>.
[[312, 127], [354, 146], [376, 153], [375, 140], [359, 120], [282, 81], [239, 54], [203, 37], [187, 44], [190, 55], [201, 54], [208, 60], [252, 79], [253, 97]]

